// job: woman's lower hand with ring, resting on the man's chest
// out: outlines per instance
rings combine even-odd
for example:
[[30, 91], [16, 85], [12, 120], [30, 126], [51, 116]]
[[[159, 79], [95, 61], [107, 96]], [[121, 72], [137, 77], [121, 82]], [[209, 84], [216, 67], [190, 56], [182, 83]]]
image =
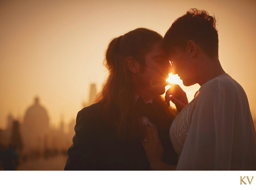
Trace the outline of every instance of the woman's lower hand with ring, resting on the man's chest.
[[164, 149], [158, 138], [157, 131], [150, 125], [146, 125], [145, 130], [146, 137], [142, 140], [142, 144], [151, 165], [163, 159]]

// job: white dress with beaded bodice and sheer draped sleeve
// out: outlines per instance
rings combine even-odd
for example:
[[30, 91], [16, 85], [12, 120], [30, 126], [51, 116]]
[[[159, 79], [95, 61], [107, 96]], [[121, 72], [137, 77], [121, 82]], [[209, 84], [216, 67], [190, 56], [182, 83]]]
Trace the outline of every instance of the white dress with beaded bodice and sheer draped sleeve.
[[228, 74], [204, 83], [173, 121], [176, 170], [256, 170], [256, 133], [244, 89]]

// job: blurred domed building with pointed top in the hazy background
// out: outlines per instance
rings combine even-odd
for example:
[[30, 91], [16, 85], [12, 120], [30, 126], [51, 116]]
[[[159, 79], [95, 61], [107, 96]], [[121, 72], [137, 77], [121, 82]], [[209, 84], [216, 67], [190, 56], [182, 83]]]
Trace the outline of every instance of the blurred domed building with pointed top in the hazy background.
[[44, 139], [49, 133], [49, 116], [46, 109], [40, 105], [38, 97], [26, 111], [22, 132], [25, 152], [44, 150]]

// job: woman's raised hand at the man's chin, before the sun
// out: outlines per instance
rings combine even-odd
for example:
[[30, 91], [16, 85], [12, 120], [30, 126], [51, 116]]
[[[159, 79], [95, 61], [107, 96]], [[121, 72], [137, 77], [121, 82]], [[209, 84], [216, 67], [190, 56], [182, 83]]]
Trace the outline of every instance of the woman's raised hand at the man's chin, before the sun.
[[186, 92], [184, 92], [180, 85], [168, 83], [171, 85], [171, 87], [166, 91], [165, 93], [165, 102], [167, 103], [167, 106], [170, 106], [170, 101], [172, 101], [178, 112], [180, 112], [183, 107], [185, 107], [188, 104], [188, 98], [186, 95]]

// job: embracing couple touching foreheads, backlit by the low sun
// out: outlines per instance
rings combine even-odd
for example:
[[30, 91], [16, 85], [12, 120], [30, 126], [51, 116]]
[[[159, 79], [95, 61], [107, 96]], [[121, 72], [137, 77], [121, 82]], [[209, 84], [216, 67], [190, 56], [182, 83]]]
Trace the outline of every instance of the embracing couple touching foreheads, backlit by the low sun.
[[[108, 78], [77, 114], [64, 170], [255, 170], [248, 100], [222, 69], [218, 42], [214, 16], [197, 9], [164, 38], [146, 28], [114, 38]], [[171, 72], [201, 86], [191, 102], [177, 84], [162, 98]]]

